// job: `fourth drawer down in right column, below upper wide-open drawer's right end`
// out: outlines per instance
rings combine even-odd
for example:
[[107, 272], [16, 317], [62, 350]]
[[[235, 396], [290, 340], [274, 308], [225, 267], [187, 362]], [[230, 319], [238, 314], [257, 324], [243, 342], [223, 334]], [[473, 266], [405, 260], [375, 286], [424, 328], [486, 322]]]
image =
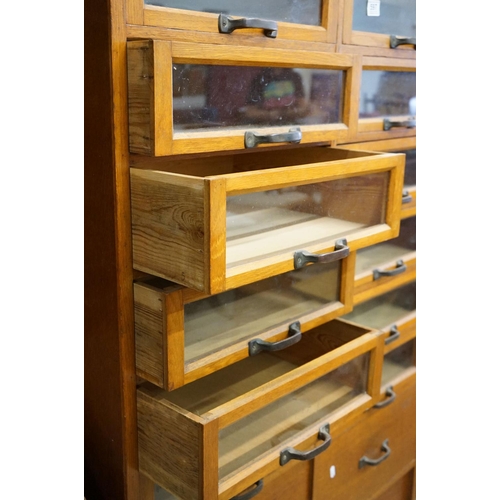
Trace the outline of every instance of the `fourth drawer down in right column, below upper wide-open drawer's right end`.
[[404, 219], [397, 238], [356, 252], [355, 305], [416, 279], [416, 222]]

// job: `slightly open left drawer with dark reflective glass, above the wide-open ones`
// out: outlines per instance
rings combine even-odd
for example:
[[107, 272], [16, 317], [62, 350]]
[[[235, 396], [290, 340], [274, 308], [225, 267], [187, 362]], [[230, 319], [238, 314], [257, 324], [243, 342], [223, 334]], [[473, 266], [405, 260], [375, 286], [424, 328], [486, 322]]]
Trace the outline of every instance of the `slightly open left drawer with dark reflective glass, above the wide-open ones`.
[[332, 144], [357, 118], [359, 56], [160, 40], [127, 49], [133, 153]]

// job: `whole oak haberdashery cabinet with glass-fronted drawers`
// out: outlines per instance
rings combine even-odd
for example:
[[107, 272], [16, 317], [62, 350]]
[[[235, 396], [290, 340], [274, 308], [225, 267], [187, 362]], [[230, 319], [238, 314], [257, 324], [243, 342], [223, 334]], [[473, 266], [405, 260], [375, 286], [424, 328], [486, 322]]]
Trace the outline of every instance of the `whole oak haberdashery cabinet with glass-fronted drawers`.
[[415, 2], [85, 9], [86, 499], [415, 500]]

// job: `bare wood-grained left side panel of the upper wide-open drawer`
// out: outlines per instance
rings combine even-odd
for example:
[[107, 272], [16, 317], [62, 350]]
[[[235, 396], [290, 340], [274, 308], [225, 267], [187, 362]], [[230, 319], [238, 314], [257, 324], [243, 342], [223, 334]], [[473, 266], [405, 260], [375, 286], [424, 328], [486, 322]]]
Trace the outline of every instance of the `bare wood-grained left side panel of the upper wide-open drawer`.
[[134, 267], [197, 290], [205, 281], [203, 183], [131, 169]]

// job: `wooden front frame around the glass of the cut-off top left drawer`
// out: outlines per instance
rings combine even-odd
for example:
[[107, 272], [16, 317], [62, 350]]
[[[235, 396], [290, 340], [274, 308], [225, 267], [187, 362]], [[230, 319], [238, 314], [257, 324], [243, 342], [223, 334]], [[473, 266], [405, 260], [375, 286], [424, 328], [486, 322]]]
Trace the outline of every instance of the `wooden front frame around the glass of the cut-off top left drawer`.
[[[335, 43], [338, 27], [338, 1], [323, 0], [321, 26], [278, 22], [277, 40]], [[127, 0], [127, 22], [129, 24], [219, 34], [218, 17], [217, 14], [207, 12], [146, 5], [144, 0]], [[221, 43], [224, 43], [224, 40], [228, 38], [236, 38], [243, 43], [248, 40], [251, 43], [256, 38], [264, 39], [266, 37], [262, 35], [261, 30], [237, 30], [230, 35], [220, 35]], [[272, 45], [273, 41], [269, 40], [269, 45]]]

